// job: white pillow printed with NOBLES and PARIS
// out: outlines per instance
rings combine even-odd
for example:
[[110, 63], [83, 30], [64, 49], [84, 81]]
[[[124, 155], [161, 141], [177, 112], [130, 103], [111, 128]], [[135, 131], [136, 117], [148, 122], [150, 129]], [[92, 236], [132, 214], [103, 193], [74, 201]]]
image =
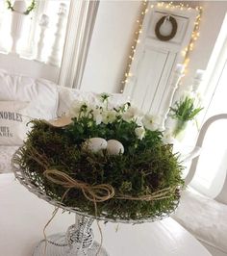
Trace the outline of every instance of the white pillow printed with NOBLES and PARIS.
[[29, 130], [28, 102], [0, 101], [0, 145], [21, 145]]

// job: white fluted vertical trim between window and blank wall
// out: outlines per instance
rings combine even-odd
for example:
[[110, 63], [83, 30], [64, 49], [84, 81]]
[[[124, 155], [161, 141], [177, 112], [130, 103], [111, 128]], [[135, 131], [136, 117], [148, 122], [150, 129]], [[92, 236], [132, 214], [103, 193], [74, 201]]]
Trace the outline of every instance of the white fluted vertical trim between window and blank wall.
[[99, 1], [74, 1], [69, 8], [59, 85], [80, 89]]

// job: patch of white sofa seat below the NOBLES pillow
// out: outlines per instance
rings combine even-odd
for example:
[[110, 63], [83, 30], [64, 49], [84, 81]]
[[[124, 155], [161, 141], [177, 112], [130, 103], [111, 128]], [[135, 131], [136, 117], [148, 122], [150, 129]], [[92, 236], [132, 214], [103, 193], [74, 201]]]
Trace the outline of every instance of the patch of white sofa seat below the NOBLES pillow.
[[11, 159], [18, 146], [0, 146], [0, 173], [11, 172]]

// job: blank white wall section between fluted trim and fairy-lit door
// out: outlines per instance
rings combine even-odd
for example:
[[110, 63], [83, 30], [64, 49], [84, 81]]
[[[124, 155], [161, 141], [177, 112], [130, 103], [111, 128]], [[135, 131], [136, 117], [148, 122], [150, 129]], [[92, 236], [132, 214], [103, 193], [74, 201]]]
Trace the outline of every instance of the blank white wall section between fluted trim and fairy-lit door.
[[139, 1], [100, 1], [81, 90], [119, 92]]

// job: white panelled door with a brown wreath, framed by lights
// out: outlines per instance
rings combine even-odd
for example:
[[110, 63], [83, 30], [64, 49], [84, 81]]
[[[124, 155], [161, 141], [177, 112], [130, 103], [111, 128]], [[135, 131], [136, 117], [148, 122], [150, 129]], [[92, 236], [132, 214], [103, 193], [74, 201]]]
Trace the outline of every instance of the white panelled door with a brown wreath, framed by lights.
[[[195, 10], [166, 11], [158, 5], [145, 14], [140, 43], [130, 69], [132, 76], [123, 91], [143, 112], [162, 115], [164, 96], [169, 93], [171, 73], [176, 64], [184, 62], [181, 51], [189, 45], [196, 14]], [[173, 38], [163, 41], [157, 38], [155, 28], [158, 21], [168, 15], [176, 21], [177, 31]], [[172, 27], [168, 23], [165, 25], [168, 34]]]

